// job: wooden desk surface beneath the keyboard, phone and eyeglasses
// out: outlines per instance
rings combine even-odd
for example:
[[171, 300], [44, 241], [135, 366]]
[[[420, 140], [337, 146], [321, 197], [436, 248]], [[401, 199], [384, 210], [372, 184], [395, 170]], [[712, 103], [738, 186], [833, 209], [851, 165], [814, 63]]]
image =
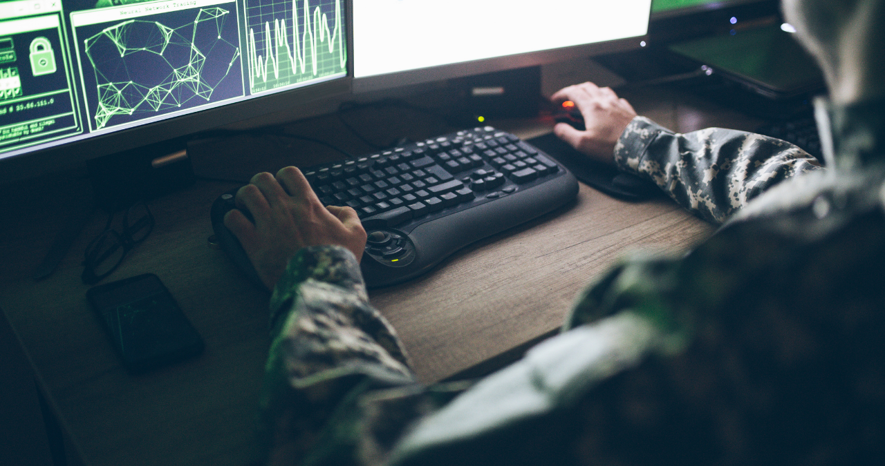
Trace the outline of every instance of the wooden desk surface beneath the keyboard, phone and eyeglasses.
[[[678, 131], [758, 122], [663, 89], [623, 93]], [[524, 138], [550, 121], [503, 121]], [[318, 136], [320, 137], [320, 136]], [[198, 181], [150, 202], [157, 225], [115, 279], [157, 273], [204, 337], [204, 355], [142, 376], [121, 367], [86, 302], [81, 254], [104, 227], [94, 213], [58, 270], [29, 279], [89, 189], [81, 180], [4, 188], [0, 307], [19, 333], [50, 402], [93, 465], [242, 465], [257, 459], [253, 427], [268, 338], [267, 294], [208, 246], [209, 208], [235, 185]], [[81, 202], [82, 203], [82, 202]], [[79, 206], [81, 208], [81, 206]], [[577, 201], [459, 251], [426, 276], [371, 293], [423, 382], [464, 371], [561, 325], [577, 294], [632, 249], [689, 248], [712, 227], [673, 202], [629, 203], [581, 185]]]

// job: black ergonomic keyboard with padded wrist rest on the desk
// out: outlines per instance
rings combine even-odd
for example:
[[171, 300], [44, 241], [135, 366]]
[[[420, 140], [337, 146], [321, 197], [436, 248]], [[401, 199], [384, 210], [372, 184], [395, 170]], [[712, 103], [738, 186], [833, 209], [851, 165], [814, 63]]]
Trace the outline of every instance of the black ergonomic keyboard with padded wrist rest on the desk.
[[[564, 166], [491, 126], [302, 172], [325, 205], [357, 210], [368, 234], [361, 268], [369, 287], [418, 277], [459, 248], [555, 210], [578, 193]], [[227, 255], [260, 285], [223, 223], [236, 208], [235, 193], [212, 204], [212, 227]]]

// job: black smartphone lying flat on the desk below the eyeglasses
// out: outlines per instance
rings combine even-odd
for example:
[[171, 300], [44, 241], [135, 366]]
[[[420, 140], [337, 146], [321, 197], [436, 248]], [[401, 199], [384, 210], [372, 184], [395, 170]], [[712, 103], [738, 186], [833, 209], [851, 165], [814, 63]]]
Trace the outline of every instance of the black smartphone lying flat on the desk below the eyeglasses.
[[203, 352], [203, 339], [153, 273], [94, 286], [86, 297], [130, 372]]

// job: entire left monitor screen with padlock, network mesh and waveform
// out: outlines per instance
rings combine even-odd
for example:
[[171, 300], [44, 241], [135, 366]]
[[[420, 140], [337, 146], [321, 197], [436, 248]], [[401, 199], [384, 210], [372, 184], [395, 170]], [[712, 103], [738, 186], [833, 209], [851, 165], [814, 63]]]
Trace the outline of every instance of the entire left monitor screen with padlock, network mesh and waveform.
[[0, 158], [346, 76], [343, 3], [0, 2]]

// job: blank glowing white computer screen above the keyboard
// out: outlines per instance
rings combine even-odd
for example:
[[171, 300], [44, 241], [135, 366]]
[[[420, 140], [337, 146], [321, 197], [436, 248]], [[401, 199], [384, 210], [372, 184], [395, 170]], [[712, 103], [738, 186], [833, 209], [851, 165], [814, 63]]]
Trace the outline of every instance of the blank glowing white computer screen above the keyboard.
[[355, 92], [640, 46], [651, 0], [354, 0]]

